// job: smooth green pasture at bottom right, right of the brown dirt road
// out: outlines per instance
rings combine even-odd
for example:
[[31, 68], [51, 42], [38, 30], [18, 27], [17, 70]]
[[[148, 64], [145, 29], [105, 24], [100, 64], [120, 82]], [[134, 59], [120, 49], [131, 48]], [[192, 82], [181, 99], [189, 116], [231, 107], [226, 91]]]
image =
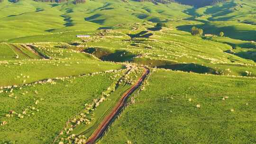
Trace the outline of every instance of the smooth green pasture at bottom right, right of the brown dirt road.
[[256, 143], [253, 79], [158, 70], [148, 82], [100, 144]]

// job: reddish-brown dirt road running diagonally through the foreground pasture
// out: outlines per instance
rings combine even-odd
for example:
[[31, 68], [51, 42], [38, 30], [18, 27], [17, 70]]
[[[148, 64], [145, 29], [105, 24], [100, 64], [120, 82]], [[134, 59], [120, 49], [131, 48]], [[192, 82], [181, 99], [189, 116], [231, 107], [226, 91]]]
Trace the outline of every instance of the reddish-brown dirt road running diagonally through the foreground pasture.
[[139, 80], [129, 89], [127, 90], [122, 97], [119, 99], [116, 106], [110, 111], [110, 113], [103, 119], [98, 128], [93, 132], [93, 134], [89, 137], [86, 144], [94, 144], [97, 139], [99, 139], [111, 124], [111, 122], [115, 119], [115, 117], [119, 114], [120, 110], [125, 106], [126, 100], [128, 97], [139, 88], [142, 82], [146, 79], [146, 76], [149, 74], [149, 69], [144, 68], [144, 73], [139, 78]]

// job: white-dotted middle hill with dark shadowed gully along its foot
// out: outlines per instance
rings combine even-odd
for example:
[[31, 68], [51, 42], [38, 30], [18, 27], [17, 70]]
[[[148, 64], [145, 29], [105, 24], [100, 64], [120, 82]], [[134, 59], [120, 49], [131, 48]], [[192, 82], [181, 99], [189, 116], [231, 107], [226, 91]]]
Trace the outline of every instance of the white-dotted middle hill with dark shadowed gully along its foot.
[[[253, 59], [246, 60], [242, 55], [225, 53], [227, 50], [232, 50], [230, 45], [222, 44], [217, 40], [213, 42], [211, 39], [191, 36], [189, 33], [172, 29], [172, 23], [168, 24], [170, 24], [169, 28], [160, 31], [150, 31], [146, 28], [152, 26], [140, 27], [134, 31], [112, 30], [105, 34], [106, 37], [89, 40], [84, 45], [94, 48], [89, 48], [89, 53], [110, 61], [130, 61], [153, 67], [199, 73], [214, 73], [227, 69], [231, 69], [230, 75], [244, 75], [245, 71], [256, 72], [255, 63], [251, 61]], [[142, 32], [144, 34], [138, 36]], [[120, 33], [127, 35], [120, 38], [111, 37]], [[152, 36], [143, 37], [147, 34]], [[134, 36], [132, 39], [129, 37], [131, 35]], [[189, 63], [195, 63], [196, 66]]]

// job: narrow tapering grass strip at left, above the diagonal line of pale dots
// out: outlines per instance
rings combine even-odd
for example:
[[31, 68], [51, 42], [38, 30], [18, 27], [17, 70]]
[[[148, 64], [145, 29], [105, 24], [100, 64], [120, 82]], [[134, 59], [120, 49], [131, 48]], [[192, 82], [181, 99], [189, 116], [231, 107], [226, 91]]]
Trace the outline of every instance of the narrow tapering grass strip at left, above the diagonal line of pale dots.
[[[19, 62], [21, 65], [19, 65]], [[117, 64], [92, 60], [10, 61], [8, 64], [0, 65], [0, 86], [31, 83], [38, 80], [75, 76], [91, 72], [103, 72], [120, 69], [121, 67], [121, 65]]]

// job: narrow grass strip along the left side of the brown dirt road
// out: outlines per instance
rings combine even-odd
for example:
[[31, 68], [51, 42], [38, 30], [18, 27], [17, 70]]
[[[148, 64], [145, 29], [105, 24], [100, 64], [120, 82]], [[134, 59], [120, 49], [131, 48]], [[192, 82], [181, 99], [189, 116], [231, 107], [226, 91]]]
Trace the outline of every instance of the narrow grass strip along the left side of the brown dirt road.
[[[118, 100], [121, 98], [122, 94], [131, 87], [131, 84], [134, 83], [132, 81], [136, 81], [138, 77], [142, 74], [143, 69], [131, 69], [129, 72], [127, 70], [115, 75], [113, 78], [115, 79], [116, 83], [113, 83], [112, 87], [109, 87], [113, 90], [108, 89], [109, 91], [105, 91], [105, 96], [102, 104], [94, 108], [93, 111], [89, 111], [86, 115], [87, 118], [93, 118], [90, 123], [82, 123], [77, 125], [77, 121], [80, 120], [82, 117], [74, 118], [72, 122], [75, 127], [70, 134], [62, 135], [62, 138], [67, 138], [71, 135], [83, 135], [85, 137], [90, 137], [90, 135], [96, 130], [98, 125], [101, 123], [103, 118], [107, 116], [111, 109], [114, 108]], [[109, 95], [108, 95], [109, 93]], [[60, 140], [61, 141], [61, 140]], [[67, 143], [68, 141], [62, 141]]]

